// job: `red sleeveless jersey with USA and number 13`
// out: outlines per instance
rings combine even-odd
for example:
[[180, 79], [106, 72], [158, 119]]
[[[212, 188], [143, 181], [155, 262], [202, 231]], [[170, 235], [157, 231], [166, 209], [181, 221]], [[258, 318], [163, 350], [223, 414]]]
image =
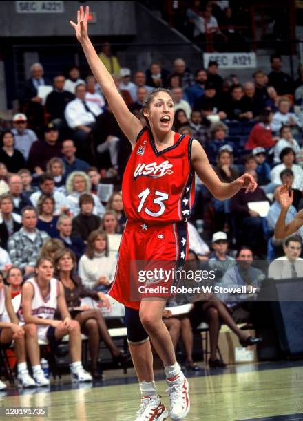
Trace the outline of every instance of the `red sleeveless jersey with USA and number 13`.
[[189, 219], [195, 192], [192, 140], [174, 133], [174, 145], [159, 152], [149, 128], [140, 131], [122, 184], [128, 219], [154, 225]]

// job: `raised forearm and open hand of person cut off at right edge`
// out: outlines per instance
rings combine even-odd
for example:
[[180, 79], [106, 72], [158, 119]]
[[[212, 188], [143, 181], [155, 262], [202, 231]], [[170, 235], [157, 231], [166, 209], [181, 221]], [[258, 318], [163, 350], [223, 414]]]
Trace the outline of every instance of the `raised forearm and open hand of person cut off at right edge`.
[[284, 239], [297, 232], [297, 230], [303, 225], [303, 210], [300, 210], [295, 218], [286, 224], [287, 212], [293, 203], [293, 190], [289, 193], [289, 186], [284, 184], [277, 188], [278, 202], [281, 204], [280, 215], [275, 224], [275, 238]]

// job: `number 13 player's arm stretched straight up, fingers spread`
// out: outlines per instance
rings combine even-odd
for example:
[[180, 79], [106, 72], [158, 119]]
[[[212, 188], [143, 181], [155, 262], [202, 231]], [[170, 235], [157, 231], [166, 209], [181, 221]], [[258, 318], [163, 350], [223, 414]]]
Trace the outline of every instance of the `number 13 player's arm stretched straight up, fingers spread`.
[[116, 89], [112, 75], [109, 74], [105, 65], [103, 65], [102, 61], [98, 58], [96, 50], [88, 37], [87, 18], [89, 10], [90, 8], [86, 6], [84, 13], [83, 7], [81, 6], [77, 13], [77, 23], [70, 21], [70, 24], [76, 32], [76, 37], [79, 43], [81, 43], [87, 62], [90, 65], [98, 84], [101, 86], [103, 94], [116, 117], [118, 125], [129, 139], [129, 142], [131, 142], [132, 147], [134, 147], [138, 133], [143, 128], [143, 125], [127, 108], [118, 89]]

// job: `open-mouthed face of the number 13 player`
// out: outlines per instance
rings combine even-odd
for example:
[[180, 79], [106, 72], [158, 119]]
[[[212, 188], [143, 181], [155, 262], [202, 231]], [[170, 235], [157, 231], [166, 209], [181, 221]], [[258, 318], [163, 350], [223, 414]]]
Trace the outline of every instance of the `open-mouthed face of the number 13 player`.
[[167, 132], [171, 130], [174, 122], [174, 101], [167, 92], [159, 92], [144, 111], [149, 119], [151, 129]]

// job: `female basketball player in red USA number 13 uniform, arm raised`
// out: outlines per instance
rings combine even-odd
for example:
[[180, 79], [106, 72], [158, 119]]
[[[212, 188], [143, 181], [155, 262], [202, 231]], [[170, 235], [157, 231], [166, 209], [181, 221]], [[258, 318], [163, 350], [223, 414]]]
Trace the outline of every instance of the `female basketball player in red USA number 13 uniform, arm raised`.
[[141, 406], [137, 421], [165, 420], [168, 412], [160, 402], [154, 383], [151, 346], [163, 361], [173, 420], [189, 412], [187, 380], [176, 362], [174, 346], [162, 321], [165, 300], [130, 299], [130, 262], [171, 260], [182, 266], [187, 252], [187, 219], [194, 200], [194, 171], [218, 199], [228, 199], [240, 188], [256, 188], [251, 175], [242, 175], [231, 184], [220, 182], [205, 151], [197, 140], [171, 130], [174, 100], [170, 91], [158, 88], [145, 98], [144, 127], [127, 109], [112, 76], [99, 60], [87, 34], [88, 6], [81, 7], [77, 23], [70, 21], [83, 47], [92, 72], [125, 136], [132, 144], [123, 177], [123, 205], [127, 224], [119, 248], [118, 266], [112, 290], [125, 305], [129, 349], [140, 382]]

